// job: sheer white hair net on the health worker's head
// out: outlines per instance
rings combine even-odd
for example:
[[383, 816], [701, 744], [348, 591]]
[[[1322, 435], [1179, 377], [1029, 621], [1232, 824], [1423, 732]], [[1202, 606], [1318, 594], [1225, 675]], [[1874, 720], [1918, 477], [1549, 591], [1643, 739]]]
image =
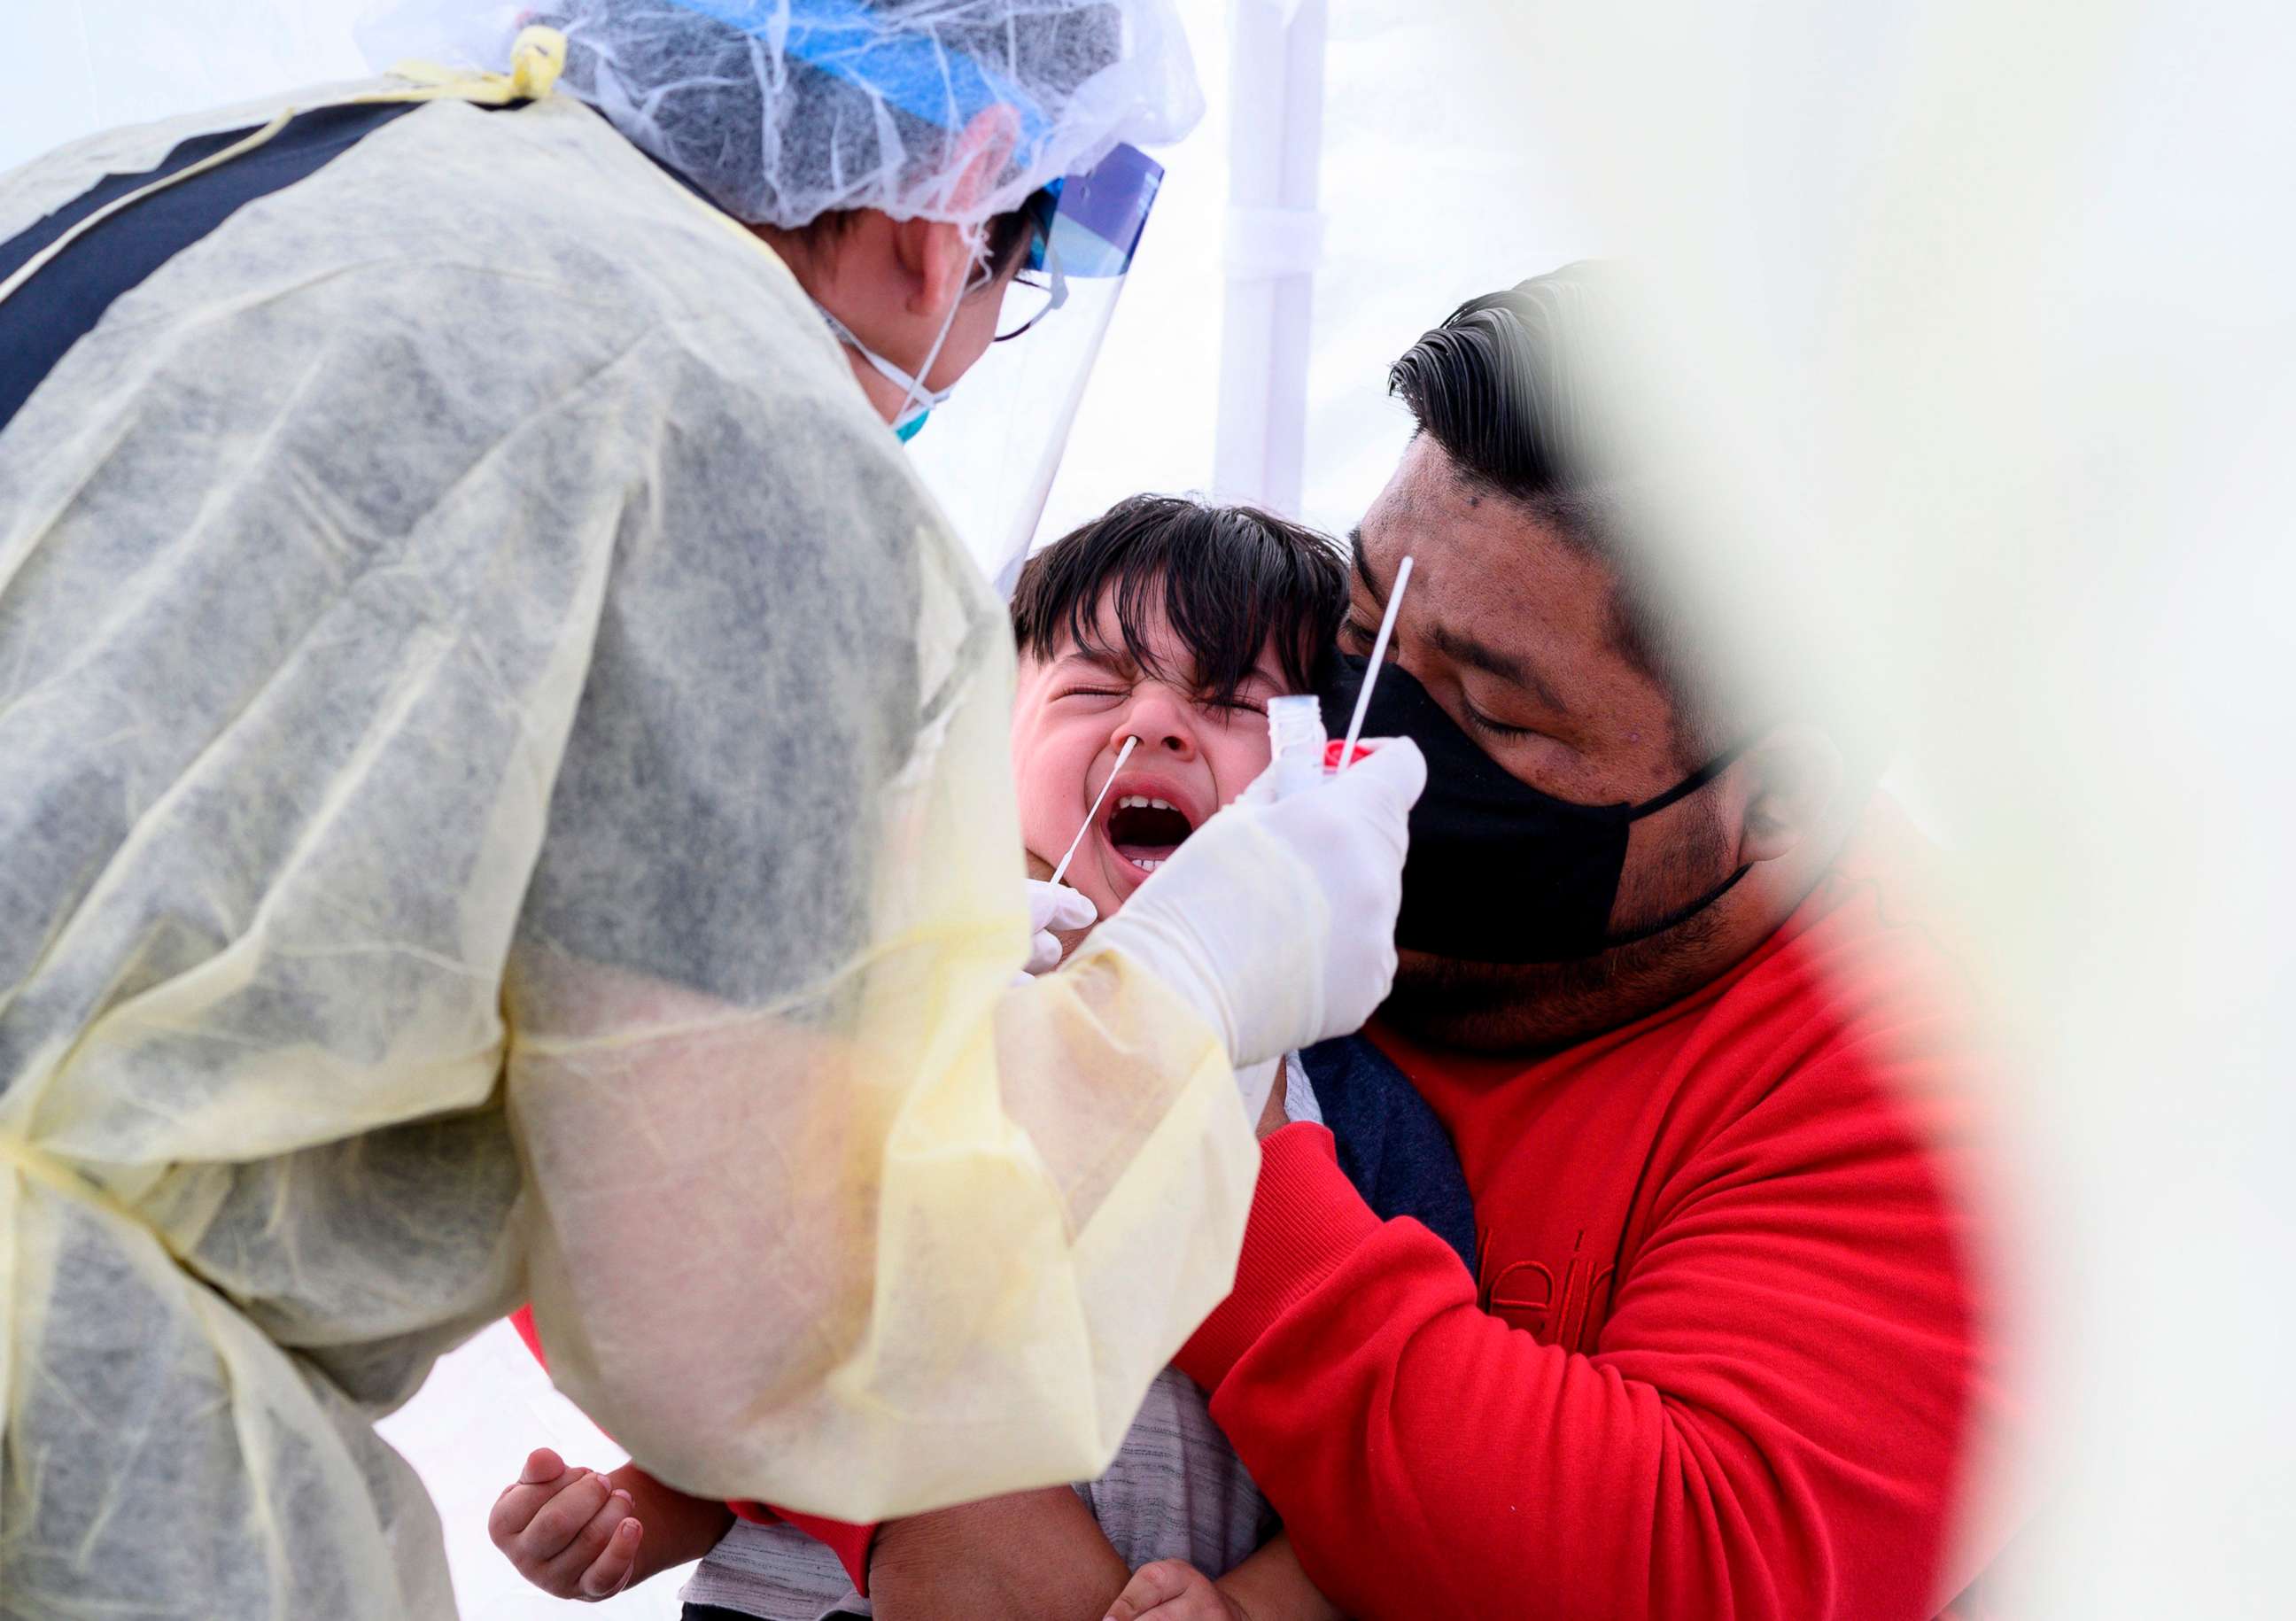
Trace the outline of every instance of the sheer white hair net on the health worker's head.
[[974, 225], [1203, 115], [1171, 0], [411, 0], [363, 41], [377, 67], [501, 67], [519, 23], [560, 30], [565, 90], [753, 225]]

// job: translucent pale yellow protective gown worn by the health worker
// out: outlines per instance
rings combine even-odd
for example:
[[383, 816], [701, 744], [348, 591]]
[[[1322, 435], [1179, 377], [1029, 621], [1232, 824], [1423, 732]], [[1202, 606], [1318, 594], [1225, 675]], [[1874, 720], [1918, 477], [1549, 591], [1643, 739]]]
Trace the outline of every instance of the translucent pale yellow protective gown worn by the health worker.
[[1008, 703], [797, 282], [569, 99], [122, 298], [0, 432], [0, 1614], [450, 1614], [370, 1419], [523, 1297], [693, 1492], [1097, 1474], [1256, 1155], [1153, 978], [1013, 985]]

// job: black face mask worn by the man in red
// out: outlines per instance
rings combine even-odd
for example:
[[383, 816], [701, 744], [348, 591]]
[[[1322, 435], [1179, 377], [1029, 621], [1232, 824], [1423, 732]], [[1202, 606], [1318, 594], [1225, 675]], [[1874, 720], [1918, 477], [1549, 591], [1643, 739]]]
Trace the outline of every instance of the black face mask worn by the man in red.
[[[1334, 659], [1316, 693], [1334, 735], [1355, 712], [1364, 668], [1364, 659]], [[1655, 799], [1582, 806], [1508, 776], [1398, 664], [1380, 670], [1371, 689], [1364, 735], [1410, 737], [1428, 758], [1428, 788], [1412, 808], [1403, 916], [1396, 923], [1396, 944], [1407, 951], [1465, 962], [1593, 957], [1697, 916], [1750, 870], [1738, 868], [1655, 923], [1609, 932], [1628, 829], [1706, 788], [1745, 751], [1743, 744]]]

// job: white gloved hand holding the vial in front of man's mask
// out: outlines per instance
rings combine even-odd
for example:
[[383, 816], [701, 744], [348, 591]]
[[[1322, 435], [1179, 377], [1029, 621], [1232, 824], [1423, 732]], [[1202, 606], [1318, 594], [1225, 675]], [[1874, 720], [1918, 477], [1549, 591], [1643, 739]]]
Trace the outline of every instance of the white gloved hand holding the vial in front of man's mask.
[[1196, 1006], [1238, 1068], [1357, 1031], [1387, 1001], [1407, 817], [1428, 781], [1410, 739], [1281, 801], [1272, 774], [1070, 957], [1132, 957]]

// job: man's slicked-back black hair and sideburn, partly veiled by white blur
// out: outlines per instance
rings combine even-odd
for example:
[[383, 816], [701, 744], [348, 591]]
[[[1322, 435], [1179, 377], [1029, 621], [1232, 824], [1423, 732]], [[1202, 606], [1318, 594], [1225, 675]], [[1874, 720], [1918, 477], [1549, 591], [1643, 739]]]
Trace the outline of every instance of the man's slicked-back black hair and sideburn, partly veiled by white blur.
[[1619, 273], [1566, 264], [1469, 298], [1394, 363], [1387, 388], [1458, 475], [1518, 503], [1614, 581], [1612, 641], [1676, 709], [1685, 749], [1715, 744], [1713, 657], [1658, 588], [1632, 535], [1630, 496], [1649, 471], [1632, 420]]

